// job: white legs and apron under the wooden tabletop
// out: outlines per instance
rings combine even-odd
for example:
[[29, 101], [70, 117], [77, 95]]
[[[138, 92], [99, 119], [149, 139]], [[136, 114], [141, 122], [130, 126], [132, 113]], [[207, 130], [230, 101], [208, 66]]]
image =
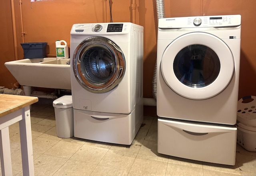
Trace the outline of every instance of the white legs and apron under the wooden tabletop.
[[9, 126], [19, 122], [22, 170], [24, 176], [34, 176], [34, 161], [30, 123], [30, 106], [0, 118], [0, 156], [3, 176], [12, 176]]

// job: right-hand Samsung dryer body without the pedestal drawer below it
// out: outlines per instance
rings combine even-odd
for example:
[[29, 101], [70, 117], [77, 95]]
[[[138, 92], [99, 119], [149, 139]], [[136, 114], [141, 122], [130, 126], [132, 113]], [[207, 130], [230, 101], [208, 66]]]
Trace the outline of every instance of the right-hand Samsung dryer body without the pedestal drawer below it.
[[236, 124], [240, 24], [240, 15], [159, 19], [159, 117]]

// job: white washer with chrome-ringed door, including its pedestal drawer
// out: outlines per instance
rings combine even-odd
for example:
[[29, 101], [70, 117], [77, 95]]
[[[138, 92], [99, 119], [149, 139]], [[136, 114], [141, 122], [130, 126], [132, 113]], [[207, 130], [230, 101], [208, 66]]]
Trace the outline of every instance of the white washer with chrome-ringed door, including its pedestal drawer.
[[143, 27], [84, 23], [70, 34], [74, 137], [130, 145], [143, 121]]

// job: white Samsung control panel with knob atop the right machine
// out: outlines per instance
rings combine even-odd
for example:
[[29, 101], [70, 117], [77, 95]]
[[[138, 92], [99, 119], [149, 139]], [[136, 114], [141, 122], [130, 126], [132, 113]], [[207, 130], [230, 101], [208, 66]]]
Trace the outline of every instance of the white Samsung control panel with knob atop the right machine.
[[234, 27], [241, 25], [240, 15], [194, 16], [178, 18], [160, 18], [160, 29], [177, 29], [189, 27]]

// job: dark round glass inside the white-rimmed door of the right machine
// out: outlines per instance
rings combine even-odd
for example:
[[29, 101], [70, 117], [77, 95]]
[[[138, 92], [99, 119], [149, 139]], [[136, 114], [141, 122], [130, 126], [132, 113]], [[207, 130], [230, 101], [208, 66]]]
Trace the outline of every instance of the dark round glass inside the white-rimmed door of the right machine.
[[201, 88], [208, 86], [218, 77], [220, 60], [218, 55], [204, 45], [190, 45], [175, 57], [174, 74], [186, 86]]

